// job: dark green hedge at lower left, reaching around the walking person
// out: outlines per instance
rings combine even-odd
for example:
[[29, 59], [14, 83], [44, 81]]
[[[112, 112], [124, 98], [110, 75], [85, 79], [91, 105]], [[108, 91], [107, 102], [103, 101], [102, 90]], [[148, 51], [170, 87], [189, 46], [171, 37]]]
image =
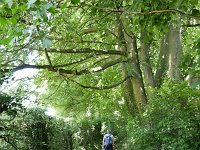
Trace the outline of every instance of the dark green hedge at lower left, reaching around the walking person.
[[[111, 129], [117, 138], [116, 148], [121, 147], [124, 137], [124, 122], [112, 116], [82, 117], [65, 121], [45, 114], [45, 109], [32, 108], [18, 114], [13, 120], [11, 144], [0, 142], [0, 149], [101, 149], [106, 129]], [[11, 122], [9, 122], [11, 123]]]

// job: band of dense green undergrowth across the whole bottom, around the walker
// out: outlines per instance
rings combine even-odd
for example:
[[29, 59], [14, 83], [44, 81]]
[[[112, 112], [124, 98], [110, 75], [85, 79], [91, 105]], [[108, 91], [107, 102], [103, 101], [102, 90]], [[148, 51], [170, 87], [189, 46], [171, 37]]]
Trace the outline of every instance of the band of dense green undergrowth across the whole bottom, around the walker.
[[[134, 120], [102, 115], [70, 121], [69, 118], [50, 117], [45, 109], [28, 109], [12, 121], [9, 142], [22, 150], [57, 147], [94, 150], [101, 148], [103, 133], [111, 129], [116, 149], [198, 149], [199, 91], [186, 83], [167, 82], [153, 93], [143, 116]], [[2, 149], [13, 148], [10, 143], [4, 144]]]

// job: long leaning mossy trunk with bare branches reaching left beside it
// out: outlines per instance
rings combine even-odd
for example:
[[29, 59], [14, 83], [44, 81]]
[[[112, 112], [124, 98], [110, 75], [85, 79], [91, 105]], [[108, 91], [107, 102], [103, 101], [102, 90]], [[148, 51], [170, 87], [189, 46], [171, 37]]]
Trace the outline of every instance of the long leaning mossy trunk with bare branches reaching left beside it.
[[125, 66], [124, 69], [126, 69], [126, 71], [124, 72], [128, 72], [132, 75], [131, 79], [127, 81], [129, 82], [129, 88], [131, 88], [130, 90], [133, 94], [133, 97], [130, 97], [130, 99], [132, 99], [134, 107], [137, 106], [138, 112], [142, 112], [144, 107], [146, 106], [147, 98], [144, 89], [142, 72], [139, 65], [136, 37], [129, 29], [128, 22], [130, 20], [125, 16], [121, 16], [120, 19], [120, 25], [123, 26], [123, 28], [121, 27], [121, 32], [123, 33], [123, 37], [125, 40], [128, 60], [130, 60], [129, 64]]

